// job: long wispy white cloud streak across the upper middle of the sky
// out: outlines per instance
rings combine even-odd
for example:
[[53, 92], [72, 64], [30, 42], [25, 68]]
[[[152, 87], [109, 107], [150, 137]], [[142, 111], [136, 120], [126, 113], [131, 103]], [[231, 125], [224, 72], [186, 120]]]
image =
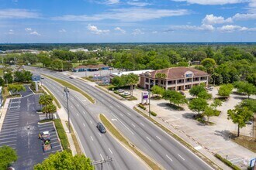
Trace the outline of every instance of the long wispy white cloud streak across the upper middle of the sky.
[[186, 9], [156, 9], [156, 8], [115, 8], [109, 12], [96, 15], [63, 15], [54, 17], [54, 20], [64, 21], [99, 21], [104, 19], [119, 20], [122, 22], [138, 22], [149, 19], [161, 19], [164, 17], [188, 15]]

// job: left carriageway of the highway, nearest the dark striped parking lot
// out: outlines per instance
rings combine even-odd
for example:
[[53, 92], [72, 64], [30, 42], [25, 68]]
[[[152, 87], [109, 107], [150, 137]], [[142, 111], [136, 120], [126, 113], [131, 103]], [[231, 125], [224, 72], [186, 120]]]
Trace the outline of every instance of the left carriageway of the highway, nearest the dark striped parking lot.
[[[54, 96], [63, 106], [67, 106], [67, 100], [64, 96], [64, 87], [50, 79], [42, 80]], [[80, 93], [70, 90], [69, 107], [71, 110], [71, 122], [74, 130], [79, 136], [81, 145], [86, 156], [92, 160], [98, 161], [102, 158], [113, 158], [112, 162], [103, 165], [103, 169], [147, 169], [144, 162], [135, 157], [130, 151], [127, 151], [120, 145], [109, 133], [101, 134], [96, 128], [99, 122], [98, 113], [92, 113], [86, 108], [85, 97]], [[96, 165], [100, 169], [100, 165]]]

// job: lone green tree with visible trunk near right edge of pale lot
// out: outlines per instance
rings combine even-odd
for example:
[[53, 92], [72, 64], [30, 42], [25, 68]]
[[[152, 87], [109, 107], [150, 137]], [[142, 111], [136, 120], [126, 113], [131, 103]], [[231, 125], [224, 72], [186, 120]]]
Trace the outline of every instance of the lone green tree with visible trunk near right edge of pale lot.
[[234, 124], [237, 124], [237, 137], [240, 134], [240, 128], [246, 126], [245, 122], [249, 121], [253, 117], [253, 112], [247, 107], [237, 106], [234, 110], [227, 110], [227, 119], [232, 120]]

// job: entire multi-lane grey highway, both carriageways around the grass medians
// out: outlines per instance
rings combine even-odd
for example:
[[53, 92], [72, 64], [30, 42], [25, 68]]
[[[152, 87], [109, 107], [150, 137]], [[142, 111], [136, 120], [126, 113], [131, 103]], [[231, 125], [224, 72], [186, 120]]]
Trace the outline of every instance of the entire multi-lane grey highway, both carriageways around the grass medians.
[[[133, 145], [153, 158], [164, 169], [212, 169], [188, 148], [102, 90], [82, 80], [70, 79], [61, 73], [50, 70], [41, 70], [41, 73], [72, 83], [95, 99], [96, 104], [88, 104], [81, 94], [74, 94], [73, 98], [71, 97], [71, 121], [86, 155], [95, 160], [107, 155], [114, 158], [115, 161], [108, 165], [109, 169], [144, 169], [147, 166], [121, 147], [110, 135], [99, 134], [95, 129], [99, 114], [105, 114]], [[43, 80], [43, 83], [54, 92], [58, 100], [61, 100], [61, 104], [65, 105], [63, 87], [49, 79]], [[134, 168], [127, 163], [128, 161], [138, 163], [134, 164], [136, 165]]]

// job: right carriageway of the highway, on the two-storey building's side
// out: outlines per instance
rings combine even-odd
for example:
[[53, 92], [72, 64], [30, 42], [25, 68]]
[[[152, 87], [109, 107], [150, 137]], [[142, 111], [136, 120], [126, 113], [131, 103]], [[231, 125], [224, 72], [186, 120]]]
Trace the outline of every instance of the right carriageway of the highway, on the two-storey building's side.
[[68, 76], [54, 71], [43, 70], [42, 73], [73, 83], [91, 95], [96, 100], [96, 104], [88, 104], [87, 110], [91, 110], [90, 113], [96, 116], [99, 111], [105, 114], [119, 131], [132, 141], [133, 145], [153, 158], [164, 169], [212, 169], [170, 135], [102, 90], [82, 80], [71, 80]]

